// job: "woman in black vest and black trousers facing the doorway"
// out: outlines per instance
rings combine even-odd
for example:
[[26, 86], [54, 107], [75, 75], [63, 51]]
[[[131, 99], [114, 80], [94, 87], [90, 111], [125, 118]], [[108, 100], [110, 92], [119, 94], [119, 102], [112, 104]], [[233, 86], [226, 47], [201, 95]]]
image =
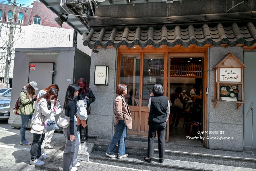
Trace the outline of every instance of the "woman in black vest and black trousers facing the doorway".
[[159, 161], [164, 162], [165, 128], [170, 114], [170, 103], [164, 96], [164, 89], [161, 84], [155, 84], [153, 93], [150, 94], [148, 108], [148, 157], [144, 160], [151, 162], [154, 157], [154, 142], [157, 131]]

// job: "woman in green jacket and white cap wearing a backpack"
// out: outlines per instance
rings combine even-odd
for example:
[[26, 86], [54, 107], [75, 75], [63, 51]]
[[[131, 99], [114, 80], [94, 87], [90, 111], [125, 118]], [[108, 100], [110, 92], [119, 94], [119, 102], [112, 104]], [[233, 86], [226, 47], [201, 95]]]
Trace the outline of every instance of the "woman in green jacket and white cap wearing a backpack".
[[36, 101], [37, 97], [37, 95], [35, 94], [35, 90], [38, 90], [37, 83], [35, 81], [31, 81], [20, 92], [20, 108], [18, 110], [18, 113], [21, 117], [20, 145], [31, 144], [31, 142], [26, 140], [25, 133], [28, 127], [28, 121], [31, 121], [34, 112], [33, 102]]

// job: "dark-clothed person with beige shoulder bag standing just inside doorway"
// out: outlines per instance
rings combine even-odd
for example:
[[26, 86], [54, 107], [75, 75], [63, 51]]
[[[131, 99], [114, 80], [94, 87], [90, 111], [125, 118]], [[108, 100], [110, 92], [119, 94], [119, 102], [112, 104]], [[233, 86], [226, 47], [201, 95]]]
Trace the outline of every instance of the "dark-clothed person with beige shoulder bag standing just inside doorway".
[[[181, 117], [181, 113], [182, 113], [182, 109], [179, 109], [174, 105], [174, 101], [175, 99], [179, 98], [181, 100], [181, 103], [183, 103], [183, 96], [181, 94], [182, 92], [182, 88], [181, 87], [177, 87], [175, 89], [175, 92], [172, 93], [172, 96], [171, 96], [171, 102], [172, 102], [172, 124], [170, 125], [170, 128], [173, 127], [174, 125], [174, 128], [179, 128], [178, 124], [179, 124], [179, 121], [180, 121], [180, 117]], [[175, 121], [176, 119], [176, 121]], [[174, 124], [175, 123], [175, 124]]]

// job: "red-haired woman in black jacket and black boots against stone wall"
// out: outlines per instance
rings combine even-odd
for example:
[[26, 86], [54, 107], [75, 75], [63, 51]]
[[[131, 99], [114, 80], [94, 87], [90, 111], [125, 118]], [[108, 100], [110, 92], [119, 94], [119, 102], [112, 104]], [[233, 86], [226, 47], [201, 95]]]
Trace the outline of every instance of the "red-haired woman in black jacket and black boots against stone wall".
[[[95, 101], [95, 96], [92, 93], [92, 89], [89, 88], [88, 84], [86, 83], [86, 80], [84, 78], [80, 78], [77, 81], [77, 85], [80, 87], [79, 94], [77, 97], [77, 100], [84, 100], [86, 99], [87, 104], [87, 114], [91, 113], [91, 106], [90, 104]], [[81, 141], [88, 141], [88, 118], [87, 120], [80, 120], [77, 116], [77, 125], [78, 125], [78, 131], [80, 133], [80, 137], [82, 137], [82, 129], [84, 130], [84, 137], [81, 138]], [[81, 125], [82, 124], [82, 125]]]

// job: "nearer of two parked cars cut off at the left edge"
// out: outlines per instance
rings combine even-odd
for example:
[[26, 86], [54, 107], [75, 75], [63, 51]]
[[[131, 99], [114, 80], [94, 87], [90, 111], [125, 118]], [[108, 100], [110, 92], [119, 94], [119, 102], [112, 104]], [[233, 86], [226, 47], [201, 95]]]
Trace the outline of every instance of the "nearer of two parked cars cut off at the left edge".
[[10, 117], [11, 92], [0, 96], [0, 119], [9, 119]]

